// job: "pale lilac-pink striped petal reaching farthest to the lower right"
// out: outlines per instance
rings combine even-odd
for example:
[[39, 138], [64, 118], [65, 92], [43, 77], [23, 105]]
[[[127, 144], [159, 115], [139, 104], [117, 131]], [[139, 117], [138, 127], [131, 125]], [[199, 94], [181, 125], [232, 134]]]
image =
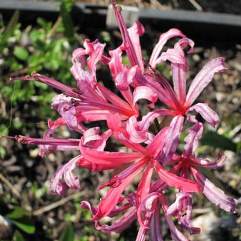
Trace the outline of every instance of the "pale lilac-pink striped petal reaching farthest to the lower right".
[[227, 212], [235, 212], [236, 200], [227, 196], [220, 188], [203, 176], [196, 169], [192, 168], [192, 173], [201, 188], [202, 193], [215, 205]]

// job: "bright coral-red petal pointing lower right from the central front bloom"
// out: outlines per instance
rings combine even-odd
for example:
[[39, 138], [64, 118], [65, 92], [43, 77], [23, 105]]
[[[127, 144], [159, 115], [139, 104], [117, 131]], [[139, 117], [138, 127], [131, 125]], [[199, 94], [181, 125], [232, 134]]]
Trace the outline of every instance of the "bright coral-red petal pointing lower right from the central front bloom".
[[178, 188], [183, 192], [199, 192], [199, 187], [194, 181], [165, 170], [157, 161], [155, 161], [155, 168], [160, 179], [168, 186]]

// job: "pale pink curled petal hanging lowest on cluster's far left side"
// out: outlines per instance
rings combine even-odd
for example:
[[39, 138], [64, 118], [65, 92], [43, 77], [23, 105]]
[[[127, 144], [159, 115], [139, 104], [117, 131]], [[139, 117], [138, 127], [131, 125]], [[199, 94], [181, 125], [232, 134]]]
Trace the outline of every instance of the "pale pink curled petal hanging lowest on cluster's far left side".
[[50, 181], [50, 189], [52, 192], [63, 195], [68, 188], [74, 190], [80, 188], [79, 178], [74, 175], [73, 171], [81, 158], [81, 156], [76, 156], [57, 170]]

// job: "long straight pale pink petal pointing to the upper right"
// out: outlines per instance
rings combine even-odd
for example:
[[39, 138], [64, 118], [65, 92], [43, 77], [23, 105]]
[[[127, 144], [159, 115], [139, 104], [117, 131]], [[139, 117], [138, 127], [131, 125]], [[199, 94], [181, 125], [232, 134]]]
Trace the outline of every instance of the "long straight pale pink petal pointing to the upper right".
[[191, 106], [203, 89], [212, 81], [215, 73], [225, 70], [224, 58], [210, 60], [193, 79], [186, 98], [186, 103]]

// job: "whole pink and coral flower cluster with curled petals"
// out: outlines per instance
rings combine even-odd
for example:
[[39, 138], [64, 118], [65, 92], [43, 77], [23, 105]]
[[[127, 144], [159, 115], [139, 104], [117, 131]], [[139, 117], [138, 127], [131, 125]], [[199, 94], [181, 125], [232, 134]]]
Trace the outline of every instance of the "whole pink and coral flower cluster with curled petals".
[[[225, 211], [235, 212], [236, 200], [226, 196], [202, 173], [204, 168], [222, 166], [224, 158], [209, 161], [196, 154], [204, 122], [216, 127], [219, 118], [206, 103], [195, 101], [214, 74], [225, 69], [224, 60], [209, 61], [187, 89], [186, 49], [193, 50], [193, 41], [178, 29], [170, 29], [160, 35], [146, 64], [139, 39], [144, 27], [136, 22], [127, 28], [120, 7], [115, 1], [112, 4], [122, 35], [121, 46], [105, 54], [104, 44], [85, 40], [84, 48], [76, 49], [72, 56], [71, 72], [76, 88], [36, 73], [22, 77], [61, 91], [52, 101], [52, 108], [60, 117], [49, 121], [43, 138], [16, 138], [21, 143], [39, 145], [42, 156], [56, 150], [80, 152], [57, 170], [51, 180], [51, 190], [59, 195], [68, 189], [79, 189], [75, 169], [114, 170], [110, 181], [99, 187], [107, 189], [99, 205], [93, 207], [87, 201], [81, 204], [92, 212], [98, 230], [121, 232], [137, 219], [140, 225], [137, 241], [145, 240], [148, 233], [152, 241], [160, 241], [163, 240], [160, 222], [165, 220], [172, 239], [184, 241], [187, 238], [180, 230], [190, 234], [200, 232], [191, 222], [194, 193], [203, 193]], [[166, 42], [173, 38], [178, 39], [173, 48], [163, 51]], [[128, 65], [123, 64], [123, 54], [128, 57]], [[171, 66], [173, 84], [157, 70], [163, 62]], [[97, 81], [99, 65], [109, 68], [115, 91]], [[143, 103], [145, 108], [141, 108]], [[161, 122], [164, 118], [166, 121]], [[88, 128], [89, 123], [93, 126], [98, 121], [105, 123], [104, 130], [97, 126]], [[57, 138], [60, 126], [79, 133], [80, 138]], [[182, 133], [186, 133], [183, 148]], [[110, 140], [121, 144], [126, 152], [106, 151]], [[130, 191], [128, 187], [133, 182], [137, 188]], [[169, 189], [175, 191], [174, 202], [168, 196]], [[111, 225], [102, 221], [107, 216], [113, 220]]]

